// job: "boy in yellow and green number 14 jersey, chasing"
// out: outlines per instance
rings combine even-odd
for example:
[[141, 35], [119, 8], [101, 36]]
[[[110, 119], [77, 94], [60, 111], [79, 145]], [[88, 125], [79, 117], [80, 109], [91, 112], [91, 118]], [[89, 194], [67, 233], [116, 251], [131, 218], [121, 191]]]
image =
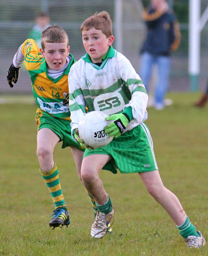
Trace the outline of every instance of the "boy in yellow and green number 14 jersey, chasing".
[[40, 172], [55, 204], [54, 217], [49, 222], [54, 229], [57, 226], [68, 226], [70, 222], [53, 158], [55, 145], [62, 141], [62, 148], [71, 147], [79, 177], [84, 148], [71, 137], [70, 112], [68, 106], [63, 104], [63, 93], [68, 93], [68, 73], [75, 62], [69, 53], [67, 33], [59, 26], [50, 26], [42, 32], [41, 44], [42, 49], [33, 39], [27, 39], [21, 44], [7, 72], [7, 80], [10, 87], [13, 87], [13, 82], [18, 81], [19, 68], [24, 61], [38, 105], [37, 157]]

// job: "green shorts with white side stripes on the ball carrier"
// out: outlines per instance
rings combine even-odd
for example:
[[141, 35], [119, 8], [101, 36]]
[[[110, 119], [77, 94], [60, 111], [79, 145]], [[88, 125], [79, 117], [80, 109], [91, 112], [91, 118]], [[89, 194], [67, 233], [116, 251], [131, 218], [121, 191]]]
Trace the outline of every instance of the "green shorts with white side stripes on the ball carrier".
[[84, 156], [103, 154], [111, 160], [103, 169], [117, 173], [150, 172], [158, 169], [153, 151], [153, 140], [147, 125], [142, 123], [127, 131], [110, 144], [95, 150], [85, 150]]

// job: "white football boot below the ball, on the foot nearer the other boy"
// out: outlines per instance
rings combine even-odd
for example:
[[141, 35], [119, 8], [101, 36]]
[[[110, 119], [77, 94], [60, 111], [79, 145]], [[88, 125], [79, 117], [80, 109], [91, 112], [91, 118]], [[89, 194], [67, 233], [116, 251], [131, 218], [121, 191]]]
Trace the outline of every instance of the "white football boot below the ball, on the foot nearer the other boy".
[[92, 224], [91, 228], [91, 236], [94, 238], [103, 238], [106, 234], [106, 231], [108, 229], [107, 223], [110, 222], [110, 219], [112, 218], [114, 214], [114, 208], [112, 206], [112, 211], [108, 214], [105, 214], [104, 212], [97, 213], [95, 217], [95, 221]]

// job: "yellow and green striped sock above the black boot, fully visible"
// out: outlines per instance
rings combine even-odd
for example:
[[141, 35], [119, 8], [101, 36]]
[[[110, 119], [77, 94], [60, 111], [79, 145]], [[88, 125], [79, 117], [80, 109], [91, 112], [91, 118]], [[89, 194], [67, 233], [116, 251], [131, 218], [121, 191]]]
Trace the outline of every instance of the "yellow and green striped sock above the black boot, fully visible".
[[56, 164], [54, 164], [53, 168], [49, 171], [43, 172], [40, 169], [40, 172], [52, 195], [53, 201], [55, 203], [55, 209], [66, 208], [67, 205], [65, 204], [62, 194], [61, 184], [59, 181], [59, 173]]

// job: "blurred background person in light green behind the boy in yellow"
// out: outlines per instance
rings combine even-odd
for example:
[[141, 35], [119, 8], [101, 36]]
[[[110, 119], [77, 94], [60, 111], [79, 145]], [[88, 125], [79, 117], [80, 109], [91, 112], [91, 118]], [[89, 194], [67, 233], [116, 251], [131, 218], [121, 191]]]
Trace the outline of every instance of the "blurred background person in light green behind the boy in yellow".
[[41, 34], [43, 30], [50, 26], [50, 18], [47, 12], [37, 13], [35, 19], [36, 25], [29, 31], [28, 38], [36, 41], [39, 48], [41, 48]]

